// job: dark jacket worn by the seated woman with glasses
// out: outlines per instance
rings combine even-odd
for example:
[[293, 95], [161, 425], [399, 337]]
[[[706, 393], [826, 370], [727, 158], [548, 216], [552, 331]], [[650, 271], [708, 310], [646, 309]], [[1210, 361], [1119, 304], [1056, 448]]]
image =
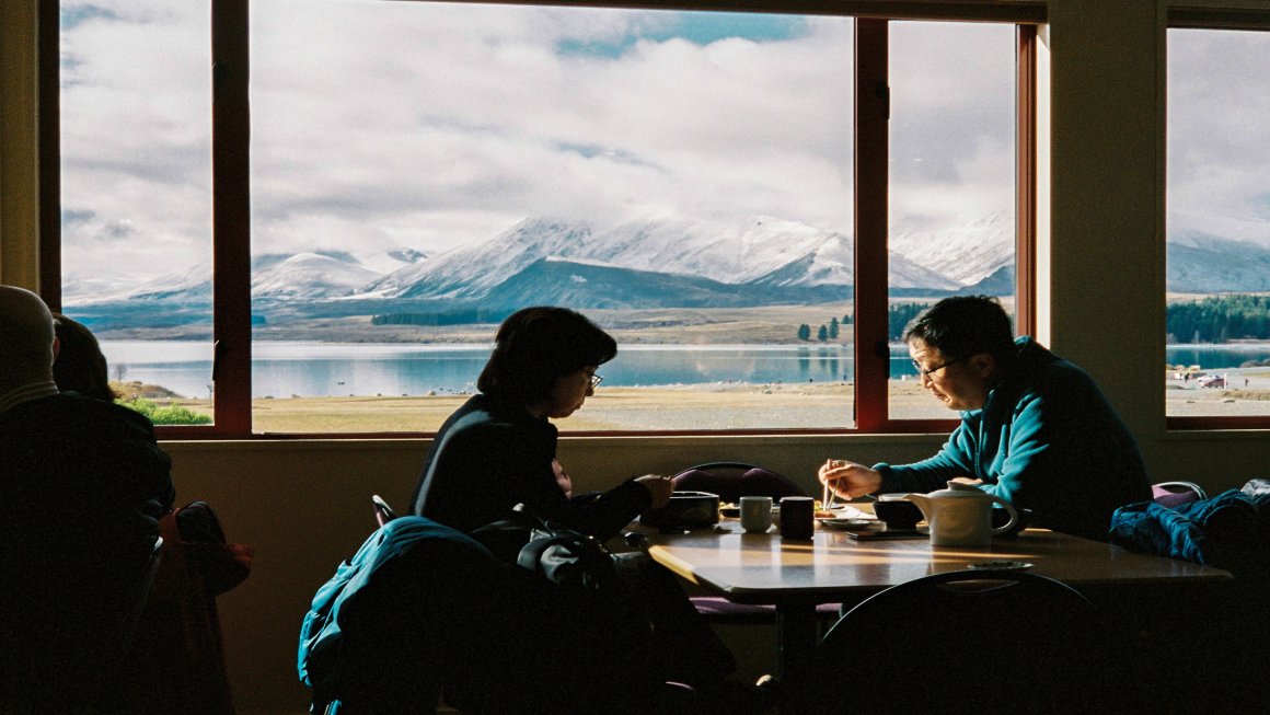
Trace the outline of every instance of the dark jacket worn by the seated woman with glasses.
[[415, 485], [411, 513], [464, 532], [504, 519], [517, 504], [569, 528], [608, 538], [652, 503], [632, 480], [605, 494], [565, 497], [556, 483], [556, 428], [488, 395], [441, 425]]

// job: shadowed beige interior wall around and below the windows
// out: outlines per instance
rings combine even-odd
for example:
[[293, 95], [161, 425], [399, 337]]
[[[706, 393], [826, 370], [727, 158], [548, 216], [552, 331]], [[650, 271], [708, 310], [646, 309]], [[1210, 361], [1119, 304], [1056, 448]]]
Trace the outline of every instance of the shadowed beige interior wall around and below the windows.
[[[1241, 3], [1242, 0], [1234, 0]], [[1190, 3], [1196, 4], [1196, 3]], [[34, 0], [0, 24], [0, 279], [34, 286]], [[1050, 0], [1048, 236], [1039, 334], [1085, 364], [1139, 437], [1158, 479], [1237, 486], [1264, 467], [1267, 433], [1165, 431], [1162, 0]], [[25, 57], [25, 60], [24, 60]], [[13, 60], [15, 58], [15, 60]], [[1043, 197], [1044, 199], [1045, 197]], [[1106, 337], [1115, 335], [1114, 347]], [[565, 439], [580, 489], [716, 458], [768, 465], [810, 485], [827, 456], [903, 462], [940, 436]], [[229, 535], [257, 546], [251, 578], [220, 598], [244, 714], [302, 712], [296, 635], [314, 589], [371, 530], [370, 494], [405, 504], [423, 441], [168, 443], [179, 497], [206, 499]], [[617, 466], [620, 465], [620, 466]], [[763, 648], [762, 639], [757, 648]], [[756, 648], [749, 643], [749, 648]]]

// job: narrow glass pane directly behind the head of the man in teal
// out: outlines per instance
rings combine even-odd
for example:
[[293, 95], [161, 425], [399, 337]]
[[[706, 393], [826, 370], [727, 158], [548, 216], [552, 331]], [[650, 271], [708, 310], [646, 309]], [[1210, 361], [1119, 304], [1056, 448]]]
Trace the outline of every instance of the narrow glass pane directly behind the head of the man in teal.
[[1015, 27], [890, 23], [890, 404], [954, 419], [908, 358], [909, 320], [954, 293], [1015, 296]]

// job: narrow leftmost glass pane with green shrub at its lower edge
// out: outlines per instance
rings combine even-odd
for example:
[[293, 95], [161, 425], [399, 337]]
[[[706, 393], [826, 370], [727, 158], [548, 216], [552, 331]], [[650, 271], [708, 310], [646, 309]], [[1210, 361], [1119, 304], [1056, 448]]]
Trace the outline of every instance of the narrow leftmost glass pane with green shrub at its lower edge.
[[62, 306], [156, 424], [212, 419], [208, 18], [61, 3]]

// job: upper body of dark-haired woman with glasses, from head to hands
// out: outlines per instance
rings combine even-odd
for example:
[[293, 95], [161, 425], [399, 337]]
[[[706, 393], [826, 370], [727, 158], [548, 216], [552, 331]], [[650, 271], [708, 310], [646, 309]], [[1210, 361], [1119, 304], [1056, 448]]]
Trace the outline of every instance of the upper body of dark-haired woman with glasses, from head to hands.
[[441, 425], [411, 511], [460, 531], [507, 518], [517, 504], [575, 531], [606, 540], [640, 512], [662, 507], [669, 478], [645, 475], [603, 494], [573, 494], [555, 458], [564, 419], [594, 394], [596, 370], [617, 343], [564, 307], [527, 307], [508, 317], [467, 400]]

